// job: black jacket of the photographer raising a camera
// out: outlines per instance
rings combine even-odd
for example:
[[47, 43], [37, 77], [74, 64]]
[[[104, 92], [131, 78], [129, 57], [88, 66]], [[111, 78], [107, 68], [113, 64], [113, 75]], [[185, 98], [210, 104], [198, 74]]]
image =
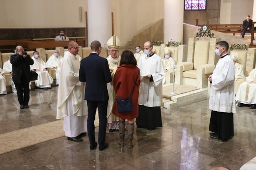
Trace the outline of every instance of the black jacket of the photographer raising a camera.
[[28, 55], [27, 57], [14, 54], [11, 56], [12, 64], [12, 81], [20, 83], [21, 75], [25, 75], [26, 81], [30, 82], [30, 65], [34, 64], [34, 60]]

